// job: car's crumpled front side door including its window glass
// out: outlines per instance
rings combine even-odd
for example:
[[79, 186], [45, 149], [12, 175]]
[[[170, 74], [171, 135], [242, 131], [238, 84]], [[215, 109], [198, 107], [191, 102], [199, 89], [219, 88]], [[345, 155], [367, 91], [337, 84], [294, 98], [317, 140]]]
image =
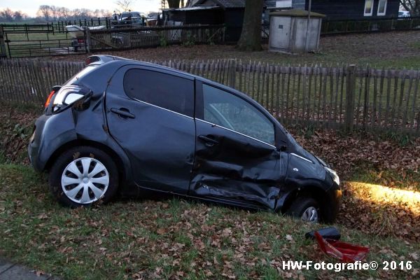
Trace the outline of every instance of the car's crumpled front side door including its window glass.
[[235, 92], [196, 81], [196, 148], [190, 195], [274, 209], [287, 156], [273, 121]]

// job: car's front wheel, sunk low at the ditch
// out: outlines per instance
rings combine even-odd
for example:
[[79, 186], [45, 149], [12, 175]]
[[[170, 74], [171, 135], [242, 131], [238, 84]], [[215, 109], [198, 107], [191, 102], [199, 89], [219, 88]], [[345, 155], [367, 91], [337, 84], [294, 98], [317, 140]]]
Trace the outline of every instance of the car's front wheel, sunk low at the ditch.
[[310, 197], [298, 197], [290, 205], [286, 214], [308, 223], [319, 223], [321, 220], [318, 202]]

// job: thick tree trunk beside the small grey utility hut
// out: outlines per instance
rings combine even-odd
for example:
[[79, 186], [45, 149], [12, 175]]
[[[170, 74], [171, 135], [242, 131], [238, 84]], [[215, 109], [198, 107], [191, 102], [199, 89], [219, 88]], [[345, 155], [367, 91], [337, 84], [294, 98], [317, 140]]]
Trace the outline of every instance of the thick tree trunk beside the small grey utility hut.
[[244, 25], [237, 47], [239, 50], [262, 50], [261, 16], [263, 0], [246, 0]]

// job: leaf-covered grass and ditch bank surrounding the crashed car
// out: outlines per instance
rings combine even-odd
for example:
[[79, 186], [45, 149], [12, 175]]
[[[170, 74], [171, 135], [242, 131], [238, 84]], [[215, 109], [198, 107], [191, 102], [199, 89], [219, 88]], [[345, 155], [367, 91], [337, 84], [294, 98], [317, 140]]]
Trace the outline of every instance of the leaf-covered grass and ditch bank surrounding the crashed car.
[[[337, 219], [343, 239], [369, 246], [367, 260], [411, 260], [410, 271], [291, 272], [283, 260], [328, 261], [304, 240], [314, 226], [179, 199], [59, 207], [45, 176], [27, 166], [32, 106], [2, 104], [0, 255], [66, 279], [416, 279], [420, 276], [420, 139], [290, 130], [344, 179]], [[333, 261], [333, 260], [330, 260]]]

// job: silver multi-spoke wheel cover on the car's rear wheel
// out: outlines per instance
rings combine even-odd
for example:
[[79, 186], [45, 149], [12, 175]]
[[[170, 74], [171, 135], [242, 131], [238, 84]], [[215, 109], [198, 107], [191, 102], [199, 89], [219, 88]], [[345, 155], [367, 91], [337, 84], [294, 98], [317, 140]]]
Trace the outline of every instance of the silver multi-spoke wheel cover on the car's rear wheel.
[[62, 190], [69, 200], [90, 204], [100, 200], [109, 186], [109, 172], [94, 158], [77, 158], [64, 168]]

